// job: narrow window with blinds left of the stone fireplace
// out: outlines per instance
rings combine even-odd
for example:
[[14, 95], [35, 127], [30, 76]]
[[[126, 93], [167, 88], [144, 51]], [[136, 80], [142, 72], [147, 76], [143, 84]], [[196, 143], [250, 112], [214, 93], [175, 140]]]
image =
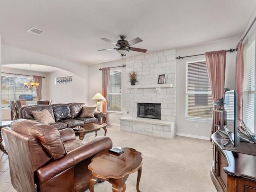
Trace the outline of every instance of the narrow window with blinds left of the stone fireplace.
[[122, 72], [121, 70], [110, 71], [108, 87], [108, 111], [121, 112], [122, 110]]

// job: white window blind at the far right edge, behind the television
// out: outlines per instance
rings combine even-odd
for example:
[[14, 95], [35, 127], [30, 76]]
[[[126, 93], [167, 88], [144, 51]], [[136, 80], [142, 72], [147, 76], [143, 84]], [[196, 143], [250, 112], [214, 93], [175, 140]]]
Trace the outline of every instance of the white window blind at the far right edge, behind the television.
[[255, 36], [244, 47], [243, 121], [254, 132]]

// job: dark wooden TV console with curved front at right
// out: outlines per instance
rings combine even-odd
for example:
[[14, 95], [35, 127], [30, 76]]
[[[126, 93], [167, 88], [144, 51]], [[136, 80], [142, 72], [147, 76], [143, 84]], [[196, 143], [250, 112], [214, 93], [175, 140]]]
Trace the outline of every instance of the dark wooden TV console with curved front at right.
[[[212, 134], [210, 176], [218, 192], [256, 192], [256, 156], [223, 149], [222, 136]], [[247, 144], [247, 143], [246, 143]], [[256, 144], [248, 143], [248, 147]]]

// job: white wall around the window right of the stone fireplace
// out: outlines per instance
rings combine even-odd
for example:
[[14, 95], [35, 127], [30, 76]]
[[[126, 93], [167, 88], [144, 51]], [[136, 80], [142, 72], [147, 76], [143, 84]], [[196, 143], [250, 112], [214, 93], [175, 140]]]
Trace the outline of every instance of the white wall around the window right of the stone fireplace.
[[[240, 38], [222, 40], [188, 48], [176, 50], [176, 56], [189, 56], [204, 54], [209, 51], [236, 48]], [[186, 62], [204, 56], [194, 56], [176, 60], [176, 133], [177, 135], [192, 136], [198, 138], [210, 138], [211, 123], [194, 122], [185, 120], [185, 101], [186, 101]], [[226, 54], [226, 81], [225, 87], [235, 89], [235, 68], [236, 52]], [[195, 128], [198, 124], [198, 128]]]

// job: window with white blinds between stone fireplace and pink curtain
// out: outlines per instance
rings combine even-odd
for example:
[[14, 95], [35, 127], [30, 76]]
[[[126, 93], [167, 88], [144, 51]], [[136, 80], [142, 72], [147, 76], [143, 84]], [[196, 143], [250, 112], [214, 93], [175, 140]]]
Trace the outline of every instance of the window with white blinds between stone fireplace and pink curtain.
[[212, 118], [212, 93], [206, 62], [186, 63], [186, 118]]

